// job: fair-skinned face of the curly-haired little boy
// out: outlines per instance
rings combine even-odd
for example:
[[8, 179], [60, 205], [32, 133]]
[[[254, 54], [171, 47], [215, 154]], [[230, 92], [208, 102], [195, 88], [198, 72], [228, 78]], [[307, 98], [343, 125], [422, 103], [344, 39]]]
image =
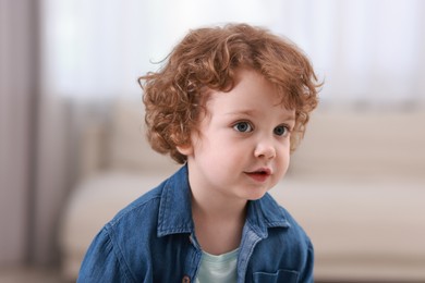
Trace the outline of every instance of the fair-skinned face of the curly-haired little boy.
[[251, 70], [238, 72], [231, 91], [212, 91], [206, 109], [192, 146], [179, 148], [192, 189], [223, 200], [263, 197], [288, 170], [295, 111]]

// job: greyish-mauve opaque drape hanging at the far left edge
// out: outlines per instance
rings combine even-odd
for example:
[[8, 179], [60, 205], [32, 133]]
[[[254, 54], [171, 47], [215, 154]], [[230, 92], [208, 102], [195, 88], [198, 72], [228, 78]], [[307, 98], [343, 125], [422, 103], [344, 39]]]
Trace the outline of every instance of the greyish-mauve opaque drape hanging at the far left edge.
[[0, 1], [0, 264], [28, 261], [35, 192], [36, 1]]

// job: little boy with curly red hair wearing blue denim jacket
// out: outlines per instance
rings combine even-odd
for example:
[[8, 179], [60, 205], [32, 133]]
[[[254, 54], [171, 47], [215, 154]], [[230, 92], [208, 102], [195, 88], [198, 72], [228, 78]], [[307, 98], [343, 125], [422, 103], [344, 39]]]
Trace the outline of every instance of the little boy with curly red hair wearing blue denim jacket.
[[139, 78], [151, 147], [182, 168], [99, 232], [78, 282], [313, 282], [313, 246], [267, 193], [319, 84], [291, 42], [246, 24], [199, 28]]

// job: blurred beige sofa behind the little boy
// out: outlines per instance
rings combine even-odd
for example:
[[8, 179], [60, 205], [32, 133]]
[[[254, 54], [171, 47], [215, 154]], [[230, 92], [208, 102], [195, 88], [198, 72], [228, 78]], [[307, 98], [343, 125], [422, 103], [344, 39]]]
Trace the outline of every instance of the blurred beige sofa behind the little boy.
[[[74, 280], [96, 232], [178, 165], [146, 144], [142, 106], [118, 101], [87, 123], [82, 179], [61, 219], [63, 274]], [[271, 194], [311, 235], [320, 281], [425, 282], [424, 109], [318, 109]]]

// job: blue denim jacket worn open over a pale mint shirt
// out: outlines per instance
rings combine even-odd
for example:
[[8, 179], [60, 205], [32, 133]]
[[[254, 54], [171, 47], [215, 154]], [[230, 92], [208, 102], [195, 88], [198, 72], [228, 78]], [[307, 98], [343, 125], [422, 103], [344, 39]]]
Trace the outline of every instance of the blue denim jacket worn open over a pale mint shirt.
[[[77, 282], [195, 282], [202, 257], [187, 167], [139, 197], [104, 226]], [[309, 238], [269, 194], [248, 201], [238, 282], [313, 282]]]

